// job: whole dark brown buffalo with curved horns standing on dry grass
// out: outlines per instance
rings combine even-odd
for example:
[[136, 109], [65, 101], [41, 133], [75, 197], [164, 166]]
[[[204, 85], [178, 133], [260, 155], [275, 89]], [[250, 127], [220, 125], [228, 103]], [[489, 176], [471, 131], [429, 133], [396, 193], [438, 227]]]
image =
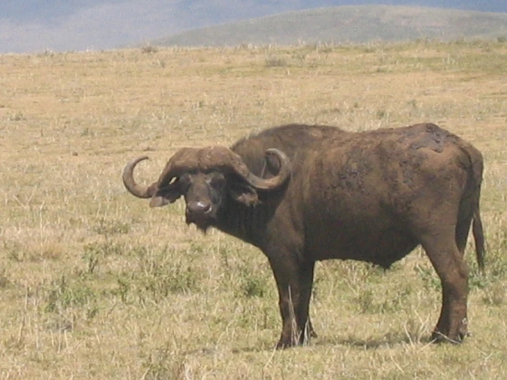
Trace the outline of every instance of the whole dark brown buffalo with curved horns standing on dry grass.
[[[436, 341], [467, 335], [463, 253], [473, 225], [479, 267], [482, 154], [431, 124], [368, 132], [287, 125], [231, 148], [182, 148], [152, 185], [138, 185], [136, 158], [123, 183], [150, 206], [183, 196], [187, 224], [213, 226], [262, 250], [279, 291], [277, 347], [312, 333], [309, 300], [318, 260], [353, 259], [388, 268], [421, 245], [442, 282]], [[473, 223], [472, 223], [473, 222]]]

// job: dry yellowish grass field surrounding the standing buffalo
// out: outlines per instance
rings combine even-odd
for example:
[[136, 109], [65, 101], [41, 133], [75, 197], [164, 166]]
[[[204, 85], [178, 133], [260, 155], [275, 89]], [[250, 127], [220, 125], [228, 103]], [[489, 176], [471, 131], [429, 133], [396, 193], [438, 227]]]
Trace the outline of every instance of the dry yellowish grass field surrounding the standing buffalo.
[[[506, 43], [424, 41], [0, 56], [0, 379], [506, 379], [506, 62]], [[432, 121], [484, 153], [464, 344], [429, 342], [440, 283], [416, 250], [318, 263], [319, 337], [274, 351], [263, 254], [121, 183], [135, 156], [150, 181], [179, 147], [293, 121]]]

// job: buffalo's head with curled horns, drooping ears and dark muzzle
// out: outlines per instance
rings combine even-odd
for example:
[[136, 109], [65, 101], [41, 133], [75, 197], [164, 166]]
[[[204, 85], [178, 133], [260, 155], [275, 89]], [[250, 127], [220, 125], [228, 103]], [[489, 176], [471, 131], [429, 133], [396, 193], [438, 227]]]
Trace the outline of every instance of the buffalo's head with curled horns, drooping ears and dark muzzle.
[[147, 156], [136, 158], [123, 169], [123, 184], [127, 190], [139, 198], [151, 198], [151, 207], [165, 206], [183, 196], [187, 204], [187, 224], [194, 223], [200, 230], [216, 224], [228, 200], [255, 205], [259, 202], [259, 191], [279, 189], [292, 171], [289, 158], [276, 149], [266, 150], [266, 163], [272, 165], [277, 161], [278, 174], [261, 178], [227, 147], [185, 147], [169, 159], [156, 182], [144, 187], [135, 182], [133, 171], [146, 159]]

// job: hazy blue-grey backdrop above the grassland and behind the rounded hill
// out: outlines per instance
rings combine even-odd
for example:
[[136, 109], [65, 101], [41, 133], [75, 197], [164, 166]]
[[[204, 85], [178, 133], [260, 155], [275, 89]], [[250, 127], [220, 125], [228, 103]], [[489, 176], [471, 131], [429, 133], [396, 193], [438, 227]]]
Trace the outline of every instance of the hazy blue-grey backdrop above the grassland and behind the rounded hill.
[[215, 23], [364, 3], [507, 12], [507, 0], [0, 0], [0, 54], [113, 49]]

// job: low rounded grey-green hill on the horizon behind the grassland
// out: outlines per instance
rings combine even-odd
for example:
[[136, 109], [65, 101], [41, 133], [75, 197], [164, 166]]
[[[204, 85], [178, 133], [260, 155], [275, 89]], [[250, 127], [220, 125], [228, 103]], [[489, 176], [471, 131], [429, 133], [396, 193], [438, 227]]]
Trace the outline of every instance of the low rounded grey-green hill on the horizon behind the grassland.
[[193, 29], [152, 40], [150, 45], [294, 45], [506, 36], [507, 13], [394, 5], [344, 5]]

